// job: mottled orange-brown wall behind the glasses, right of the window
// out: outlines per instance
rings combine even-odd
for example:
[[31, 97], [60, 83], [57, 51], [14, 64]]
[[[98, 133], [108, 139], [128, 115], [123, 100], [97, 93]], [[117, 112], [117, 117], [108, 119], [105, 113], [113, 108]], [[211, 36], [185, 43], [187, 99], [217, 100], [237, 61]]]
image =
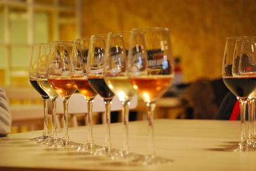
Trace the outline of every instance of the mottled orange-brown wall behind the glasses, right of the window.
[[186, 82], [221, 77], [227, 36], [255, 36], [255, 0], [82, 0], [82, 36], [168, 27]]

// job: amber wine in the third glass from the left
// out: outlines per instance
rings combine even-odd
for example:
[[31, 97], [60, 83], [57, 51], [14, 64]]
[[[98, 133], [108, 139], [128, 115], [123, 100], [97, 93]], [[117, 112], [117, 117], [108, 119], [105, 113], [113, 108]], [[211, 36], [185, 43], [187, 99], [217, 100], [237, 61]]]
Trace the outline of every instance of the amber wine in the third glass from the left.
[[48, 82], [61, 98], [68, 99], [76, 91], [75, 84], [70, 78], [48, 78]]

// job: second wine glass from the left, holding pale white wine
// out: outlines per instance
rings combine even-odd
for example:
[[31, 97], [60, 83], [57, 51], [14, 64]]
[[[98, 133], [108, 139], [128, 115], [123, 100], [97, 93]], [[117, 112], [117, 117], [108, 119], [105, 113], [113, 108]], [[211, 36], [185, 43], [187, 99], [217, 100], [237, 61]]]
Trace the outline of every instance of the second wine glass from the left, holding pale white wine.
[[58, 145], [56, 133], [56, 100], [58, 98], [58, 94], [54, 91], [54, 89], [52, 89], [47, 80], [47, 63], [49, 59], [50, 45], [50, 43], [41, 43], [39, 46], [36, 67], [36, 80], [38, 85], [45, 91], [45, 93], [48, 94], [51, 99], [52, 128], [48, 144], [56, 146]]

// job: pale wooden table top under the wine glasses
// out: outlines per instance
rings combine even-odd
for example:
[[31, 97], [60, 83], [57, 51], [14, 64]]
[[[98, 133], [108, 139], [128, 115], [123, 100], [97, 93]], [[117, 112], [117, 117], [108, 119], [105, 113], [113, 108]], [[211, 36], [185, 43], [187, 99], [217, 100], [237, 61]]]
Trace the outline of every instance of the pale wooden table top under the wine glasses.
[[[239, 121], [157, 119], [154, 121], [156, 155], [170, 165], [138, 166], [106, 160], [83, 152], [46, 147], [28, 139], [42, 131], [0, 138], [0, 170], [256, 170], [256, 152], [228, 152], [239, 140]], [[60, 132], [61, 136], [61, 131]], [[70, 128], [70, 139], [86, 141], [87, 127]], [[104, 144], [104, 126], [93, 126], [96, 144]], [[129, 123], [131, 151], [147, 151], [147, 122]], [[122, 124], [111, 124], [113, 147], [122, 146]]]

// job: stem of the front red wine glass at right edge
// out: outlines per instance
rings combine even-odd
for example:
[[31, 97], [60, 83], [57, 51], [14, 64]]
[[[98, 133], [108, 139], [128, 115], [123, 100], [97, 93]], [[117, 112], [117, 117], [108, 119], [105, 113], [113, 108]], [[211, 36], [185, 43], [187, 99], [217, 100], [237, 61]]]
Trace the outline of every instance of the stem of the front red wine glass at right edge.
[[246, 98], [240, 98], [240, 118], [241, 118], [241, 140], [240, 140], [240, 149], [244, 148], [244, 143], [246, 140], [246, 128], [245, 128], [245, 114], [246, 114]]

